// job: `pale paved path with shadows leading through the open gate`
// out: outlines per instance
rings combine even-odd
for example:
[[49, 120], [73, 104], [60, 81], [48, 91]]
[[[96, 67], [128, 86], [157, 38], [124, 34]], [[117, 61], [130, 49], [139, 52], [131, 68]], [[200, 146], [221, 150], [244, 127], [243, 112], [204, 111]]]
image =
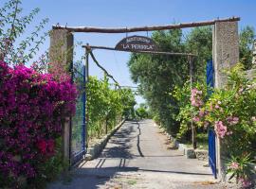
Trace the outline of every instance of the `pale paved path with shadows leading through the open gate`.
[[99, 158], [74, 169], [70, 182], [49, 188], [219, 188], [206, 162], [186, 159], [166, 142], [152, 120], [126, 121]]

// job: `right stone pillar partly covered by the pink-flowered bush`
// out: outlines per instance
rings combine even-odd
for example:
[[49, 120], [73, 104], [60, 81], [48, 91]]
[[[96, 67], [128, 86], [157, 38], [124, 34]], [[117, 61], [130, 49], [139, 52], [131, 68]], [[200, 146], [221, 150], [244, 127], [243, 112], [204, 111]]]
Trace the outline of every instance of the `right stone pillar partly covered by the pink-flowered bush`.
[[[238, 23], [216, 22], [212, 32], [212, 57], [214, 66], [214, 87], [223, 88], [227, 83], [224, 70], [230, 69], [239, 61]], [[226, 180], [226, 167], [223, 160], [225, 146], [216, 139], [216, 163], [219, 180]]]

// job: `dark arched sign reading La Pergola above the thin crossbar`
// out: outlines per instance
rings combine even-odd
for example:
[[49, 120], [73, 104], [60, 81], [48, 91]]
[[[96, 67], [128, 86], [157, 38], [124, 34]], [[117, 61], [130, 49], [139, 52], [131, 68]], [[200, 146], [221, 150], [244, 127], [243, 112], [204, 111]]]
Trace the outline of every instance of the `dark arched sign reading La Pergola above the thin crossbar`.
[[115, 47], [122, 51], [157, 51], [155, 42], [144, 36], [131, 36], [122, 39]]

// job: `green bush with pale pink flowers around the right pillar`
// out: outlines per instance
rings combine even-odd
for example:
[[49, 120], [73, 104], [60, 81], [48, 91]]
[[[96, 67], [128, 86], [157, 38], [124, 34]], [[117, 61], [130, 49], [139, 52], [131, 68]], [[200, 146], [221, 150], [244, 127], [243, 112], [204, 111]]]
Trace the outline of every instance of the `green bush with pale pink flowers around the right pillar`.
[[253, 185], [248, 164], [255, 162], [256, 156], [256, 84], [255, 80], [247, 79], [240, 64], [227, 74], [226, 88], [215, 89], [208, 100], [200, 84], [190, 90], [186, 83], [175, 90], [181, 107], [177, 116], [181, 121], [178, 136], [190, 130], [191, 121], [197, 129], [213, 128], [221, 139], [222, 152], [230, 158], [228, 173], [248, 187]]

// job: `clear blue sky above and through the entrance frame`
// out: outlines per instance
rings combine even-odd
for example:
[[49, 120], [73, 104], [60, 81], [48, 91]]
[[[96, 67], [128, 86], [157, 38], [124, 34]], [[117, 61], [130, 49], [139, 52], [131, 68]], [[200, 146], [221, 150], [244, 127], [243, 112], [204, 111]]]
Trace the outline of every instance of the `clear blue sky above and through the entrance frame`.
[[[1, 0], [0, 6], [5, 2], [6, 0]], [[158, 26], [231, 16], [241, 17], [239, 28], [247, 25], [256, 27], [255, 0], [23, 0], [25, 13], [33, 8], [40, 8], [41, 11], [35, 22], [27, 28], [27, 32], [46, 17], [49, 18], [46, 30], [57, 23], [67, 26]], [[147, 35], [146, 32], [137, 34]], [[75, 34], [75, 41], [115, 46], [125, 36], [126, 34], [79, 33]], [[48, 45], [49, 40], [41, 46], [42, 53]], [[75, 60], [80, 60], [82, 53], [82, 48], [77, 48]], [[127, 68], [129, 53], [97, 50], [94, 54], [121, 85], [135, 86]], [[92, 61], [90, 75], [102, 77], [101, 70]], [[142, 101], [141, 98], [137, 99]]]

